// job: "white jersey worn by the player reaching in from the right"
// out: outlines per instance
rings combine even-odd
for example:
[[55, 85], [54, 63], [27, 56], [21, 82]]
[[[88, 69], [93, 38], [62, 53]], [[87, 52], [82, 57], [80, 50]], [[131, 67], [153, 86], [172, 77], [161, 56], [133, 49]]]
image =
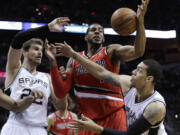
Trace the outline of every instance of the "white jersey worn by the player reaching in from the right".
[[[125, 110], [127, 115], [127, 126], [132, 125], [140, 116], [143, 114], [146, 106], [154, 101], [160, 101], [165, 104], [164, 98], [161, 94], [155, 91], [150, 97], [146, 100], [136, 103], [136, 88], [131, 88], [127, 95], [124, 97], [125, 101]], [[159, 125], [160, 127], [164, 126], [163, 122]], [[153, 127], [152, 127], [153, 128]], [[162, 129], [162, 128], [161, 128]], [[161, 131], [162, 132], [162, 131]], [[148, 135], [148, 131], [144, 132], [141, 135]], [[159, 134], [158, 135], [167, 135]]]

